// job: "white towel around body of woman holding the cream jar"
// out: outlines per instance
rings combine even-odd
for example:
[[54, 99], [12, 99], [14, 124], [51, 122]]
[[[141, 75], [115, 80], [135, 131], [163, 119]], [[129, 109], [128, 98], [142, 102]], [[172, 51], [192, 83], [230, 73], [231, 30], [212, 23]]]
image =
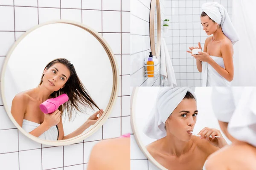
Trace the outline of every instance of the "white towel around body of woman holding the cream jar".
[[[225, 68], [222, 57], [210, 57], [222, 68]], [[202, 86], [230, 86], [230, 84], [208, 62], [202, 62]]]

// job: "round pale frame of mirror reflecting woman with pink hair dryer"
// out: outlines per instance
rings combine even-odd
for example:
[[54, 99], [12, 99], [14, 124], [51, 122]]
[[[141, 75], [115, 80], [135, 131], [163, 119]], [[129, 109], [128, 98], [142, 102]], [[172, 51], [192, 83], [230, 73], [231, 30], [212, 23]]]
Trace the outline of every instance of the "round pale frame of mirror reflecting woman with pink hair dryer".
[[[5, 72], [6, 72], [6, 66], [7, 66], [9, 58], [12, 55], [12, 52], [15, 50], [17, 45], [23, 40], [23, 38], [25, 38], [29, 33], [34, 31], [35, 29], [40, 28], [40, 27], [45, 26], [45, 25], [55, 24], [55, 23], [65, 23], [65, 24], [78, 26], [78, 27], [84, 29], [85, 31], [89, 32], [90, 34], [92, 34], [101, 43], [101, 45], [105, 49], [106, 53], [108, 54], [109, 60], [111, 62], [112, 71], [113, 71], [113, 87], [112, 87], [112, 92], [111, 92], [111, 98], [108, 102], [107, 108], [105, 109], [105, 114], [103, 114], [101, 116], [99, 121], [96, 122], [96, 124], [93, 125], [93, 128], [90, 129], [87, 133], [80, 134], [80, 135], [75, 136], [73, 138], [60, 140], [60, 141], [58, 141], [58, 140], [57, 141], [50, 141], [50, 140], [39, 139], [38, 137], [35, 137], [35, 136], [31, 135], [30, 133], [27, 133], [25, 130], [23, 130], [23, 128], [20, 127], [20, 125], [16, 122], [16, 120], [12, 116], [11, 111], [9, 110], [9, 108], [7, 106], [7, 102], [6, 102], [6, 99], [5, 99], [6, 94], [4, 92], [4, 78], [5, 78], [4, 75], [5, 75]], [[2, 100], [3, 100], [3, 106], [6, 110], [6, 113], [8, 114], [9, 118], [11, 119], [13, 124], [18, 128], [18, 130], [20, 130], [20, 132], [22, 132], [25, 136], [34, 140], [35, 142], [39, 142], [41, 144], [46, 144], [46, 145], [52, 145], [52, 146], [64, 146], [64, 145], [69, 145], [69, 144], [74, 144], [74, 143], [81, 142], [82, 140], [86, 139], [87, 137], [89, 137], [93, 133], [95, 133], [100, 127], [102, 127], [102, 125], [106, 122], [109, 115], [111, 114], [111, 110], [113, 109], [114, 103], [116, 102], [117, 92], [119, 90], [119, 71], [118, 71], [117, 68], [118, 68], [117, 62], [116, 62], [114, 53], [111, 50], [110, 46], [108, 45], [106, 40], [97, 31], [93, 30], [89, 26], [86, 26], [82, 23], [69, 21], [69, 20], [56, 20], [56, 21], [49, 21], [47, 23], [42, 23], [42, 24], [39, 24], [39, 25], [31, 28], [30, 30], [26, 31], [23, 35], [21, 35], [20, 38], [17, 41], [15, 41], [15, 43], [12, 45], [12, 47], [9, 49], [9, 51], [6, 55], [6, 59], [3, 63], [3, 68], [2, 68], [2, 72], [1, 72], [1, 97], [2, 97]], [[5, 114], [5, 113], [3, 113], [3, 114]]]

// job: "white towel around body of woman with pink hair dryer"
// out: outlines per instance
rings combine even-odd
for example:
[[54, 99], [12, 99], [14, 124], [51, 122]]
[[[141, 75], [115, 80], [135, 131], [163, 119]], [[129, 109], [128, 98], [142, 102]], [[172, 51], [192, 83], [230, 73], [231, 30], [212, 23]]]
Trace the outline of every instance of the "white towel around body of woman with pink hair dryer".
[[[27, 132], [31, 132], [35, 128], [37, 128], [40, 124], [31, 122], [29, 120], [23, 119], [23, 124], [22, 128]], [[41, 136], [38, 138], [44, 139], [44, 140], [51, 140], [51, 141], [56, 141], [58, 138], [58, 129], [56, 126], [52, 126], [49, 128], [49, 130], [45, 131]]]

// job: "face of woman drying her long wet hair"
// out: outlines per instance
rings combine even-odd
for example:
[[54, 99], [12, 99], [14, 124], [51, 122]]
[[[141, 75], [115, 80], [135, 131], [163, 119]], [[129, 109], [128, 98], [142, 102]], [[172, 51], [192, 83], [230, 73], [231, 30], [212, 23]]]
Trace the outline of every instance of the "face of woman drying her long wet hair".
[[44, 86], [50, 91], [58, 91], [63, 88], [70, 77], [69, 69], [59, 62], [45, 69], [43, 74]]

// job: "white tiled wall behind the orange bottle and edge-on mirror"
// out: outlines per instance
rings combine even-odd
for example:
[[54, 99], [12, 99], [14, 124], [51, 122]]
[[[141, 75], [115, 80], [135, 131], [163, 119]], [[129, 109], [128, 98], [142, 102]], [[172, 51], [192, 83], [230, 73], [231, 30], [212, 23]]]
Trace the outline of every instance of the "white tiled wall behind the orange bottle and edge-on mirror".
[[[161, 25], [165, 0], [160, 0]], [[149, 14], [151, 0], [131, 0], [131, 86], [160, 86], [160, 77], [144, 77], [145, 58], [150, 47]]]

